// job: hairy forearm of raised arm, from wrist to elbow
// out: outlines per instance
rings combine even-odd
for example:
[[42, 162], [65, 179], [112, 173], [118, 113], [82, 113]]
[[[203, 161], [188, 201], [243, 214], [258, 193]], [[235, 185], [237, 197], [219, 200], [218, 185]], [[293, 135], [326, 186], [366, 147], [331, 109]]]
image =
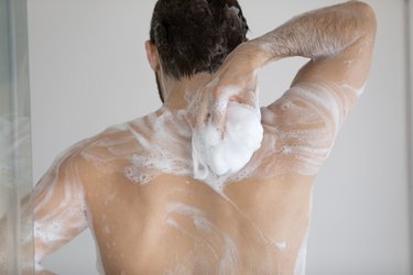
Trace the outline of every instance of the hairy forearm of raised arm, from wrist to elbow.
[[257, 67], [290, 56], [316, 59], [344, 51], [360, 37], [374, 33], [374, 28], [371, 8], [350, 1], [293, 18], [242, 47], [253, 56]]

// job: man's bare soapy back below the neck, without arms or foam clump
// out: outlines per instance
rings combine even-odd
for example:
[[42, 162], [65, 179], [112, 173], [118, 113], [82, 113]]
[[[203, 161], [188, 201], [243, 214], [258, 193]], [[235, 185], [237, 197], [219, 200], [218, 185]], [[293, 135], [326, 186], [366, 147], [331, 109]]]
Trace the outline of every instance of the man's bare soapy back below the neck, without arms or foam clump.
[[79, 182], [107, 274], [302, 273], [312, 183], [348, 95], [308, 85], [262, 108], [262, 146], [222, 193], [192, 175], [185, 111], [163, 108], [87, 142]]

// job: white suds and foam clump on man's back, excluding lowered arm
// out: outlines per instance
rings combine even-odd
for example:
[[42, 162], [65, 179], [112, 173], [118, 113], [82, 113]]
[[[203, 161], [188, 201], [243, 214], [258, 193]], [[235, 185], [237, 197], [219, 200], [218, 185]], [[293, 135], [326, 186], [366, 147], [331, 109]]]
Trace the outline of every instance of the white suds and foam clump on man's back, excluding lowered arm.
[[[345, 95], [343, 90], [346, 90]], [[231, 96], [233, 87], [226, 92], [228, 95], [222, 102]], [[110, 152], [112, 157], [96, 162], [96, 167], [105, 167], [105, 162], [110, 164], [113, 160], [124, 160], [127, 165], [121, 172], [139, 185], [149, 184], [162, 174], [193, 177], [210, 186], [237, 209], [225, 195], [225, 186], [229, 183], [250, 177], [259, 179], [282, 176], [286, 173], [316, 175], [359, 95], [359, 89], [345, 84], [302, 84], [292, 87], [269, 108], [258, 109], [258, 103], [254, 107], [237, 102], [217, 105], [217, 111], [227, 113], [224, 135], [211, 121], [199, 128], [191, 127], [187, 118], [188, 113], [196, 111], [196, 100], [195, 103], [189, 103], [188, 110], [178, 112], [164, 107], [145, 118], [109, 130], [115, 133], [126, 131], [130, 136], [118, 143], [101, 141], [98, 146]], [[130, 146], [134, 147], [132, 154]], [[85, 150], [83, 156], [94, 162], [99, 160], [93, 148]], [[165, 226], [183, 234], [193, 234], [175, 218], [176, 215], [187, 217], [202, 234], [214, 232], [220, 235], [220, 245], [227, 243], [228, 248], [228, 253], [224, 253], [226, 258], [233, 260], [230, 260], [236, 255], [235, 246], [230, 245], [233, 242], [224, 238], [200, 210], [177, 202], [170, 205], [166, 211], [170, 215], [165, 219]], [[240, 211], [240, 215], [247, 219], [243, 212]], [[251, 230], [258, 240], [279, 253], [284, 253], [290, 248], [285, 242], [268, 239], [256, 226], [251, 226]], [[200, 237], [192, 238], [197, 240]], [[217, 251], [214, 243], [206, 243], [200, 239], [198, 242], [209, 245], [211, 253]], [[296, 274], [305, 270], [305, 251], [306, 238], [295, 263]], [[270, 255], [269, 252], [265, 255], [269, 257], [267, 270], [272, 268], [270, 263], [273, 258]], [[194, 257], [194, 253], [188, 253], [185, 261], [189, 264]], [[175, 266], [171, 273], [185, 268], [185, 264]]]

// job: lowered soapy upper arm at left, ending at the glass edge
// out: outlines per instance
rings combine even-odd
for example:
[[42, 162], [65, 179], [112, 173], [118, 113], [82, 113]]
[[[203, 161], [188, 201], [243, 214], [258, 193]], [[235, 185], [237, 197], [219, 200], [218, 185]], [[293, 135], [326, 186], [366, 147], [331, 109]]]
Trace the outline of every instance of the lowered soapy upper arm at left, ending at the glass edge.
[[50, 274], [40, 265], [42, 258], [88, 227], [81, 177], [88, 165], [80, 155], [83, 145], [58, 157], [34, 189], [36, 274]]

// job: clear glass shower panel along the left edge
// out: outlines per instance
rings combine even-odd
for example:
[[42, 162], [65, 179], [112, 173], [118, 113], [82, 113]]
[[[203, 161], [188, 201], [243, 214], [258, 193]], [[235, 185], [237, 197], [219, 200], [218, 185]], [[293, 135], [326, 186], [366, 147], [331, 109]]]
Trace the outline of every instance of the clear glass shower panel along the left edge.
[[25, 0], [0, 0], [0, 274], [33, 274]]

